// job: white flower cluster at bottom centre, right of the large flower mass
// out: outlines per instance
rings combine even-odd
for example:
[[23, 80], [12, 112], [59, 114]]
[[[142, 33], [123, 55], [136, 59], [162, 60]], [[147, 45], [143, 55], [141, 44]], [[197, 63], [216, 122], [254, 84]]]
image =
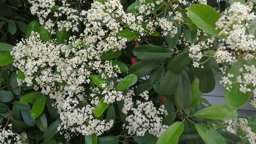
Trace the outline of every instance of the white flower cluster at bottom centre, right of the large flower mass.
[[126, 117], [124, 128], [128, 130], [128, 134], [144, 136], [152, 134], [159, 137], [169, 126], [162, 124], [162, 118], [167, 115], [164, 105], [156, 108], [152, 101], [141, 102], [136, 101], [136, 104], [129, 102], [130, 98], [124, 99], [124, 108], [122, 112], [130, 115]]

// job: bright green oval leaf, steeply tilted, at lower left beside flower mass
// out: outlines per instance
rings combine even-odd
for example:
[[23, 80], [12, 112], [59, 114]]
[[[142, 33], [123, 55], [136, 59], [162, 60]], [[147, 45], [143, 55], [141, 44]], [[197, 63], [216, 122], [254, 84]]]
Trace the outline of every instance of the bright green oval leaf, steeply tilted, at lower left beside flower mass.
[[32, 118], [37, 118], [42, 114], [42, 112], [44, 111], [45, 104], [46, 104], [46, 96], [40, 96], [39, 98], [36, 99], [31, 109]]

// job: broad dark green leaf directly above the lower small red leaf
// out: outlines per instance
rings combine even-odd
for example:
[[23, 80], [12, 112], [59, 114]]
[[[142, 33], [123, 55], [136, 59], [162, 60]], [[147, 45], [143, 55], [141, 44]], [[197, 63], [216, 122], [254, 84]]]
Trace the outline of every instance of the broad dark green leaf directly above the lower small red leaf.
[[[180, 83], [180, 76], [182, 73], [174, 73], [171, 71], [167, 71], [162, 78], [162, 81], [159, 85], [160, 95], [170, 96], [176, 92], [178, 84]], [[155, 89], [155, 87], [154, 87]]]

